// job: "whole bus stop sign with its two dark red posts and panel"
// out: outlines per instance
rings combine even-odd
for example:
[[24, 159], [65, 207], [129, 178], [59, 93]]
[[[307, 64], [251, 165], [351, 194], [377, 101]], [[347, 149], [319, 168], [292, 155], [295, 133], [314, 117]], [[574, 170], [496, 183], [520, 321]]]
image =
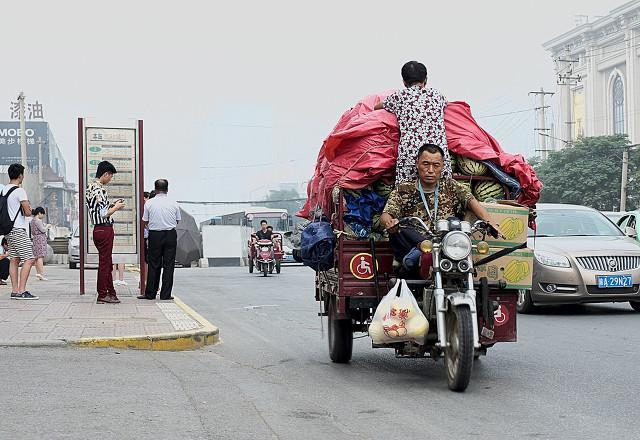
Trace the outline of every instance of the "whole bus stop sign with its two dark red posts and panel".
[[111, 162], [117, 173], [107, 186], [109, 200], [124, 200], [125, 207], [113, 215], [112, 256], [117, 263], [140, 264], [144, 272], [144, 237], [141, 212], [143, 199], [142, 121], [119, 122], [78, 119], [78, 171], [80, 184], [80, 293], [84, 294], [84, 267], [98, 263], [93, 244], [93, 225], [88, 218], [85, 190], [96, 178], [102, 161]]

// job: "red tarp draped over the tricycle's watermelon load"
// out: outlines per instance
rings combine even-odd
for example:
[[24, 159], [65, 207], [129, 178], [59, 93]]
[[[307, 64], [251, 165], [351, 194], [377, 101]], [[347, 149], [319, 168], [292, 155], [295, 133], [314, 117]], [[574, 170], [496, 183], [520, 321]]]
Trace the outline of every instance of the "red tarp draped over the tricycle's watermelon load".
[[[330, 212], [335, 186], [360, 189], [385, 179], [393, 182], [398, 157], [399, 130], [395, 115], [374, 111], [376, 102], [388, 93], [371, 95], [345, 112], [324, 140], [313, 177], [307, 187], [307, 202], [298, 216], [310, 218], [316, 206]], [[490, 160], [520, 182], [518, 202], [531, 206], [540, 197], [542, 184], [521, 155], [505, 153], [498, 142], [471, 116], [465, 102], [450, 102], [444, 112], [449, 150], [474, 160]]]

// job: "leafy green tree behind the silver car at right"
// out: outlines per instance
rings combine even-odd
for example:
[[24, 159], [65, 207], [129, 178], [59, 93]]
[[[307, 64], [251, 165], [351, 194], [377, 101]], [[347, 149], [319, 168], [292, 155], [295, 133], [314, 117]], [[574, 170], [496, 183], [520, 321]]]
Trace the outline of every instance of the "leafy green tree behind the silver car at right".
[[[602, 211], [620, 206], [622, 152], [629, 144], [625, 135], [581, 138], [573, 145], [551, 152], [545, 161], [534, 160], [544, 185], [541, 203], [571, 203]], [[640, 154], [629, 154], [627, 209], [639, 206]]]

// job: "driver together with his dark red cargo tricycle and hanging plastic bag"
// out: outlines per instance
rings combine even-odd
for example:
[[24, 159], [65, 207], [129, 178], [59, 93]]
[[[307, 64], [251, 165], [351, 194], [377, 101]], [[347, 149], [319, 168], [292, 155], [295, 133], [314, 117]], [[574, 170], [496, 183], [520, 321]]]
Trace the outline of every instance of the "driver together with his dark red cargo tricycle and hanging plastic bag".
[[492, 252], [487, 239], [501, 237], [499, 226], [468, 187], [443, 175], [443, 151], [424, 145], [416, 165], [417, 180], [391, 191], [380, 215], [388, 239], [349, 239], [344, 190], [334, 190], [334, 264], [317, 271], [316, 299], [329, 317], [334, 362], [349, 362], [353, 334], [364, 332], [374, 348], [392, 348], [397, 357], [444, 357], [449, 388], [463, 391], [474, 359], [496, 342], [516, 340], [518, 291], [501, 263], [495, 273], [480, 268], [526, 240]]

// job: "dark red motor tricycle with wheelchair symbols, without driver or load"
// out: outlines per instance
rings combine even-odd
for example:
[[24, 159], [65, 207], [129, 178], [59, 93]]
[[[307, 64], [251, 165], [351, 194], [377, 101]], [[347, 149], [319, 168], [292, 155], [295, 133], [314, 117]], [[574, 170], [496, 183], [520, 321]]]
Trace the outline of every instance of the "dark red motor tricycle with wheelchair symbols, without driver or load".
[[[342, 190], [340, 190], [341, 192]], [[335, 196], [334, 196], [335, 197]], [[334, 198], [335, 230], [343, 230], [342, 194]], [[475, 265], [506, 255], [509, 249], [485, 256], [489, 245], [473, 244], [471, 235], [486, 235], [485, 222], [456, 218], [440, 220], [429, 231], [419, 218], [401, 220], [401, 227], [422, 226], [424, 240], [418, 244], [422, 260], [432, 266], [428, 279], [405, 279], [429, 322], [424, 344], [398, 342], [372, 344], [391, 348], [398, 358], [444, 358], [447, 384], [464, 391], [471, 377], [474, 359], [486, 355], [497, 342], [516, 341], [517, 290], [506, 289], [503, 281], [489, 283], [475, 279]], [[480, 261], [477, 258], [480, 257]], [[348, 239], [338, 234], [334, 267], [316, 273], [316, 300], [328, 316], [329, 355], [333, 362], [347, 363], [353, 349], [354, 332], [367, 333], [381, 298], [398, 282], [398, 263], [388, 240]]]

